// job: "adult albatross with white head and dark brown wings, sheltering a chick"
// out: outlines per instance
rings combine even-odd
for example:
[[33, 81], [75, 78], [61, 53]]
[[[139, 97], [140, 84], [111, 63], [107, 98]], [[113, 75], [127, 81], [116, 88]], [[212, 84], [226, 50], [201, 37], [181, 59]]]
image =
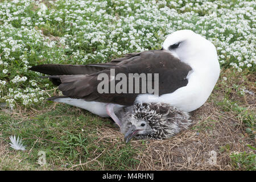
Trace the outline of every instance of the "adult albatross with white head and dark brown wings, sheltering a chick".
[[[99, 93], [100, 73], [111, 77], [123, 73], [158, 73], [159, 95], [148, 93]], [[207, 101], [220, 75], [216, 48], [191, 30], [168, 35], [161, 50], [129, 53], [110, 63], [88, 65], [44, 64], [30, 68], [45, 73], [59, 85], [64, 96], [48, 98], [55, 102], [81, 107], [101, 117], [112, 117], [122, 126], [117, 114], [123, 106], [164, 103], [190, 112]], [[109, 80], [109, 81], [110, 81]], [[154, 82], [155, 80], [151, 80]], [[141, 87], [141, 85], [140, 85]]]

